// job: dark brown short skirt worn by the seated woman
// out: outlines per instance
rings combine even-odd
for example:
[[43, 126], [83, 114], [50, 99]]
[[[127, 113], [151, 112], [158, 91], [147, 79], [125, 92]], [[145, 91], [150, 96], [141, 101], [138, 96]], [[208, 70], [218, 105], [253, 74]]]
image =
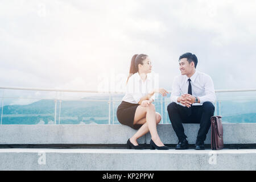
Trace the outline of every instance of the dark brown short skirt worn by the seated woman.
[[139, 104], [132, 104], [130, 102], [122, 101], [117, 108], [117, 119], [123, 124], [138, 130], [142, 125], [134, 125], [134, 115]]

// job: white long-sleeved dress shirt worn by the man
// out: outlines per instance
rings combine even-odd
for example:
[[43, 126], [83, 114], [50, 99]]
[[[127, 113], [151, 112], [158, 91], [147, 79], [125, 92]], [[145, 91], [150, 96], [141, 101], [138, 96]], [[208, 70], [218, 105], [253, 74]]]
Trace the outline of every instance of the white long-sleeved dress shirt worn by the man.
[[[174, 78], [174, 82], [172, 84], [172, 92], [171, 92], [171, 102], [177, 102], [177, 98], [183, 94], [188, 93], [188, 78], [186, 75], [179, 75]], [[216, 100], [215, 92], [214, 92], [214, 85], [212, 78], [209, 75], [202, 73], [202, 72], [195, 72], [193, 76], [190, 77], [191, 79], [191, 87], [192, 87], [192, 96], [198, 97], [200, 103], [192, 104], [193, 106], [196, 105], [203, 105], [204, 102], [214, 102]], [[181, 104], [180, 104], [181, 105]]]

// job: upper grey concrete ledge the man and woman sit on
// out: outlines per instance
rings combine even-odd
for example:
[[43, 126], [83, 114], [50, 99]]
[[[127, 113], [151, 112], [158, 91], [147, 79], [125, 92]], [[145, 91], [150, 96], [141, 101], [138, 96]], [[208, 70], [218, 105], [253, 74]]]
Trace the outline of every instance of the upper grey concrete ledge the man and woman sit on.
[[[195, 143], [199, 124], [183, 126], [189, 143]], [[223, 123], [223, 128], [225, 144], [256, 143], [256, 123]], [[136, 131], [124, 125], [1, 125], [0, 144], [125, 144]], [[171, 124], [158, 125], [158, 133], [163, 143], [177, 143]], [[150, 139], [148, 133], [138, 142]]]

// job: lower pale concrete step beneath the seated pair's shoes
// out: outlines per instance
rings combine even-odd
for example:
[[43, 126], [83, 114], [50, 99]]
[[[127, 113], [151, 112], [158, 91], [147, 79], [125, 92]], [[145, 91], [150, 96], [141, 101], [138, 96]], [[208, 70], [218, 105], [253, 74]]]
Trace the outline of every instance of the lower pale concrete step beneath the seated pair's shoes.
[[256, 170], [256, 149], [1, 148], [0, 170]]

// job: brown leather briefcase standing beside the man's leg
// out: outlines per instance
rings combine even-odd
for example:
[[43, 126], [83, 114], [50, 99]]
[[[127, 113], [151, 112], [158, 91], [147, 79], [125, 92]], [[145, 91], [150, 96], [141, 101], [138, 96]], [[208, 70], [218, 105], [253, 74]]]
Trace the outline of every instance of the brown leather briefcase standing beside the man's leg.
[[212, 126], [211, 126], [212, 133], [210, 135], [211, 148], [212, 150], [221, 150], [224, 147], [221, 116], [219, 115], [212, 116], [210, 118], [210, 121], [212, 123]]

